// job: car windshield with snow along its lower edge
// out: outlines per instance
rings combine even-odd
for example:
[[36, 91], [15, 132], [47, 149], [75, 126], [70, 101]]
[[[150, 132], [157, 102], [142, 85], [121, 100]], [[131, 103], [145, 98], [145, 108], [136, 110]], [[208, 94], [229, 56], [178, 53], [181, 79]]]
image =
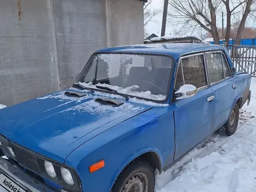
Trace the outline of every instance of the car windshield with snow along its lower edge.
[[169, 92], [172, 58], [161, 55], [98, 54], [87, 63], [76, 83], [104, 86], [118, 93], [165, 100]]

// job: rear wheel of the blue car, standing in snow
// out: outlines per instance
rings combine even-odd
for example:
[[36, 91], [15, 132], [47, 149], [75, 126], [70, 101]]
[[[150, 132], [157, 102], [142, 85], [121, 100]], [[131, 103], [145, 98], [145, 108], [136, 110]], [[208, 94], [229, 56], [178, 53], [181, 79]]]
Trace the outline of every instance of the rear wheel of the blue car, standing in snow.
[[221, 128], [219, 128], [219, 133], [226, 136], [232, 136], [236, 132], [237, 125], [239, 121], [239, 106], [234, 105], [232, 111], [229, 115], [229, 119]]

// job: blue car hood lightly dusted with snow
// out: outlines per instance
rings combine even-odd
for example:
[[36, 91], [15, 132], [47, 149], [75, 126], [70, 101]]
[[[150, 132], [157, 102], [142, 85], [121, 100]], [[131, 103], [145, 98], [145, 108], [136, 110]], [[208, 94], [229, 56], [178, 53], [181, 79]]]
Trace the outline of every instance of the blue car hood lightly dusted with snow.
[[97, 95], [67, 97], [64, 91], [0, 110], [0, 133], [13, 143], [64, 162], [67, 155], [118, 123], [152, 108], [136, 102], [113, 107]]

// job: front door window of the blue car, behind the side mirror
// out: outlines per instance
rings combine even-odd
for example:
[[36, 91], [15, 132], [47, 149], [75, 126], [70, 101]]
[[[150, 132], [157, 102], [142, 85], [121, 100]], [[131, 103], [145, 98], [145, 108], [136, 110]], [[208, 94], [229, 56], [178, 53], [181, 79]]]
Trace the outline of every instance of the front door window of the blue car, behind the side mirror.
[[190, 56], [180, 60], [175, 90], [184, 84], [192, 84], [197, 88], [207, 86], [203, 55]]

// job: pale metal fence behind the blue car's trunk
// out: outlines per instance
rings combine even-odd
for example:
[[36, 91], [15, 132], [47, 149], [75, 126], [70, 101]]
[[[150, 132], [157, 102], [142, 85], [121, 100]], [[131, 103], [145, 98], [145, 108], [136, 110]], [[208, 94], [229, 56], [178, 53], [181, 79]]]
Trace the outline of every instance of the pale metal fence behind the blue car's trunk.
[[256, 76], [256, 46], [255, 45], [225, 45], [229, 51], [237, 72], [247, 72]]

